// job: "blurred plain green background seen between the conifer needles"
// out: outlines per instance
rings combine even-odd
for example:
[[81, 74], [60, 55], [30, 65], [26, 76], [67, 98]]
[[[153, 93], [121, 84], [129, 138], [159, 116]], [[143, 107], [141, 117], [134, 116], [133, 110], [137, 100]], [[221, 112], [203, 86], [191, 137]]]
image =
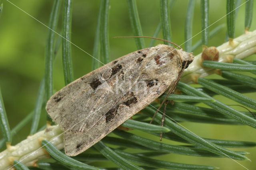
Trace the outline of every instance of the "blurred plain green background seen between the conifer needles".
[[[19, 8], [27, 12], [25, 14], [17, 7], [7, 1], [2, 1], [4, 9], [0, 18], [0, 86], [4, 99], [6, 113], [10, 123], [10, 128], [17, 125], [28, 113], [34, 109], [39, 83], [44, 75], [44, 53], [46, 46], [46, 36], [48, 28], [40, 24], [35, 19], [28, 16], [30, 14], [43, 24], [48, 25], [52, 0], [12, 0]], [[72, 42], [86, 52], [92, 54], [96, 21], [98, 18], [99, 0], [74, 0], [73, 20], [72, 20]], [[152, 36], [160, 22], [160, 3], [158, 0], [138, 0], [137, 7], [140, 16], [142, 31], [144, 36]], [[170, 12], [172, 41], [177, 44], [184, 42], [184, 24], [188, 0], [178, 0]], [[254, 16], [251, 31], [255, 30], [256, 5], [254, 4]], [[61, 10], [62, 11], [62, 10]], [[201, 31], [200, 21], [200, 0], [196, 0], [196, 8], [193, 21], [193, 35]], [[245, 5], [241, 6], [236, 21], [236, 37], [244, 33], [244, 12]], [[111, 61], [136, 51], [135, 41], [128, 38], [112, 39], [114, 36], [133, 36], [128, 8], [125, 0], [110, 0], [110, 56]], [[226, 14], [226, 1], [210, 1], [210, 24], [216, 22]], [[61, 14], [57, 32], [61, 33]], [[226, 23], [226, 17], [210, 26], [210, 30], [220, 24]], [[209, 46], [219, 46], [224, 43], [226, 28], [218, 33], [209, 42]], [[58, 37], [56, 35], [56, 37]], [[158, 36], [162, 38], [160, 34]], [[201, 34], [195, 36], [192, 42], [200, 40]], [[150, 40], [145, 39], [146, 45]], [[162, 42], [158, 42], [162, 43]], [[184, 47], [184, 45], [182, 45]], [[201, 48], [193, 51], [200, 53]], [[72, 58], [74, 65], [74, 78], [77, 79], [91, 71], [92, 57], [72, 46]], [[255, 60], [255, 55], [246, 60]], [[58, 51], [54, 63], [54, 89], [55, 91], [64, 87], [62, 72], [61, 49]], [[246, 94], [256, 98], [256, 93]], [[225, 100], [226, 104], [235, 102], [223, 97], [216, 99]], [[240, 108], [238, 108], [240, 109]], [[241, 110], [241, 109], [240, 109]], [[45, 125], [46, 116], [42, 113], [40, 127]], [[182, 123], [186, 128], [205, 138], [218, 138], [225, 140], [256, 140], [256, 130], [246, 126], [210, 125], [202, 123]], [[30, 131], [30, 124], [26, 125], [14, 138], [16, 144], [25, 139]], [[2, 135], [1, 135], [2, 136]], [[154, 140], [159, 140], [153, 137]], [[169, 142], [164, 140], [164, 142]], [[176, 144], [176, 142], [170, 142]], [[234, 149], [238, 150], [238, 149]], [[242, 148], [250, 152], [250, 161], [238, 161], [248, 169], [256, 168], [256, 148]], [[204, 164], [217, 166], [222, 169], [243, 169], [242, 166], [229, 158], [202, 158], [192, 156], [182, 156], [168, 154], [159, 159], [171, 162], [181, 162], [187, 164]]]

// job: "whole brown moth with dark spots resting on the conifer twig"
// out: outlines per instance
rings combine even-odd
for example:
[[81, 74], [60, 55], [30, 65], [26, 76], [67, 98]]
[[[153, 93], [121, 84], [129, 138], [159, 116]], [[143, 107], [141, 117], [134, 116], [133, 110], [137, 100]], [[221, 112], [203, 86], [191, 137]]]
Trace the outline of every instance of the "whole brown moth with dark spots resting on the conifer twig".
[[64, 130], [64, 148], [76, 156], [171, 91], [192, 53], [157, 45], [124, 55], [73, 81], [47, 102], [50, 117]]

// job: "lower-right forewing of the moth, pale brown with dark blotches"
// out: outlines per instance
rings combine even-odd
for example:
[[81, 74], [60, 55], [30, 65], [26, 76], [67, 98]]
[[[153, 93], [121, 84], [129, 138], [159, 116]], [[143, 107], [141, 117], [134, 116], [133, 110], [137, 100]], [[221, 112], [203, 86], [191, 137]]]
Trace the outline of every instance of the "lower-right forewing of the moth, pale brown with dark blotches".
[[[168, 88], [169, 82], [159, 81], [157, 90], [162, 93]], [[144, 89], [137, 91], [136, 95], [128, 95], [115, 102], [110, 109], [104, 113], [93, 127], [86, 133], [74, 133], [68, 130], [64, 134], [65, 153], [69, 156], [76, 156], [84, 150], [90, 148], [93, 144], [101, 140], [112, 130], [120, 126], [127, 119], [135, 115], [138, 111], [152, 103], [162, 93], [155, 92], [153, 94], [145, 93]]]

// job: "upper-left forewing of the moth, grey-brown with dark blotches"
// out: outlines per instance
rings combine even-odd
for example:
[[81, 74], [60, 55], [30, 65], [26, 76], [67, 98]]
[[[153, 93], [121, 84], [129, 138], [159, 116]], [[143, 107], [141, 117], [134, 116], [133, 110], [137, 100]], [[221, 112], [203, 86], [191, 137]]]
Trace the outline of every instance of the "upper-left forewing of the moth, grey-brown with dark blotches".
[[[108, 107], [105, 105], [116, 92], [113, 86], [115, 79], [126, 77], [130, 73], [128, 70], [133, 67], [138, 68], [130, 61], [136, 61], [148, 50], [146, 48], [124, 55], [66, 85], [50, 97], [46, 111], [63, 130], [71, 128], [82, 119], [89, 121], [93, 117], [100, 117], [94, 113], [99, 112], [100, 106], [104, 106], [102, 109]], [[136, 74], [138, 77], [139, 73]]]

